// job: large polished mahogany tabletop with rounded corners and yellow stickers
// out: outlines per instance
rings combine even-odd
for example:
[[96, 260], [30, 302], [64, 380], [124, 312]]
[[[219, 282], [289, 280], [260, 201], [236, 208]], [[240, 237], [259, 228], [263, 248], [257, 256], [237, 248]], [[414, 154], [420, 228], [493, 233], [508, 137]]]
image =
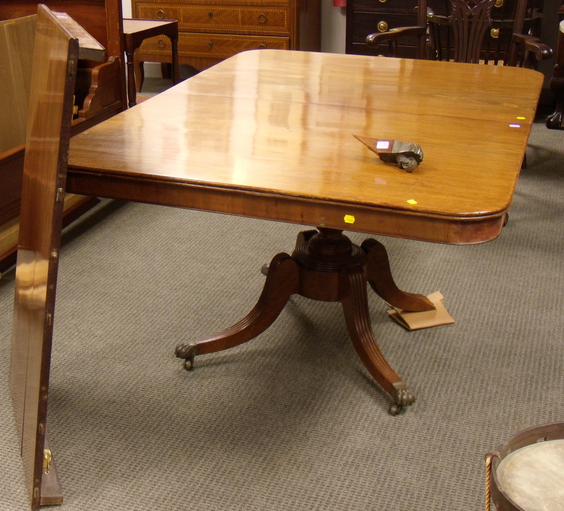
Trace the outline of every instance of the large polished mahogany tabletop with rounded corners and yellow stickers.
[[[255, 50], [71, 140], [67, 190], [424, 241], [494, 239], [543, 76]], [[421, 145], [412, 173], [353, 135]]]

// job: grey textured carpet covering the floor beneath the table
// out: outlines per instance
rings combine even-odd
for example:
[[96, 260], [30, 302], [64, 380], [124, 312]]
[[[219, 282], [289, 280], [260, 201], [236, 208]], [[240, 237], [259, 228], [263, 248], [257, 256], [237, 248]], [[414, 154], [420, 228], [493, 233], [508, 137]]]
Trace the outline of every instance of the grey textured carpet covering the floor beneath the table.
[[[293, 298], [190, 373], [173, 354], [252, 307], [262, 263], [300, 226], [106, 203], [68, 230], [49, 399], [63, 511], [482, 510], [484, 453], [564, 420], [564, 132], [536, 124], [527, 159], [495, 241], [383, 240], [400, 287], [442, 291], [456, 320], [407, 332], [370, 296], [417, 395], [395, 417], [337, 304]], [[0, 509], [20, 511], [12, 308], [13, 272], [0, 280]]]

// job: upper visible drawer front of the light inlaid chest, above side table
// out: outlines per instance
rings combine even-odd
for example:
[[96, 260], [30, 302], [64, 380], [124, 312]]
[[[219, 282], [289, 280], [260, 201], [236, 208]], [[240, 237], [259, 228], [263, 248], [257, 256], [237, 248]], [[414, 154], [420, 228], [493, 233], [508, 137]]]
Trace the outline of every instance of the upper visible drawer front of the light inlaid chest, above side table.
[[290, 10], [283, 7], [137, 4], [135, 16], [178, 20], [180, 31], [290, 32]]

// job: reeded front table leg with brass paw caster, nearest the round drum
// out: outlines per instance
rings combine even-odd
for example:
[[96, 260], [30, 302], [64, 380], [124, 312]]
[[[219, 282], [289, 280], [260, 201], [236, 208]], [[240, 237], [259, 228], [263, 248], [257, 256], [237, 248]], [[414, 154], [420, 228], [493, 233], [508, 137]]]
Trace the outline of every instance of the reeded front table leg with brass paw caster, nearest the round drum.
[[348, 333], [358, 356], [374, 380], [391, 395], [396, 404], [391, 413], [396, 414], [400, 407], [413, 404], [415, 396], [390, 366], [374, 338], [362, 267], [348, 266], [341, 270], [339, 301], [343, 305]]

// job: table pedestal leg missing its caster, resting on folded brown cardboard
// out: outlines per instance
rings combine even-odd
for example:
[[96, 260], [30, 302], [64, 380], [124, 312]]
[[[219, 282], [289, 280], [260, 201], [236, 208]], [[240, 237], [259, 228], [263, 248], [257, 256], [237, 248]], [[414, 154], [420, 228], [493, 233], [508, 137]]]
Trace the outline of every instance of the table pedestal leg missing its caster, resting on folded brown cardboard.
[[407, 293], [396, 286], [384, 245], [375, 239], [366, 239], [361, 248], [367, 255], [367, 281], [378, 296], [404, 311], [432, 311], [435, 308], [427, 296]]

